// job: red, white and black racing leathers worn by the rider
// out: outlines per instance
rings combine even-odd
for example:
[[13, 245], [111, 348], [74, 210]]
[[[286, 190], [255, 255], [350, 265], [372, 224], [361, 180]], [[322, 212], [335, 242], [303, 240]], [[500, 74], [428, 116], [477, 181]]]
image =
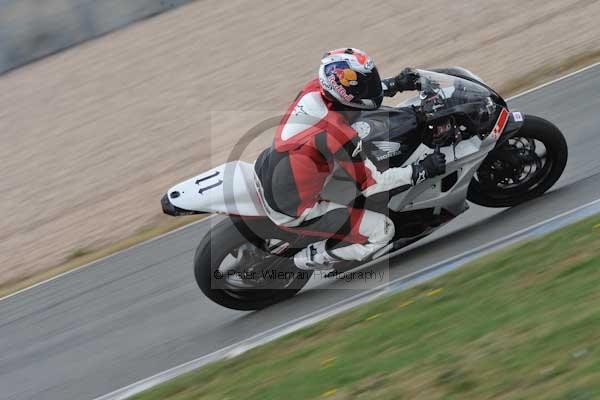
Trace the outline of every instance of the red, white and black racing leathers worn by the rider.
[[320, 264], [335, 259], [364, 260], [394, 236], [394, 224], [386, 215], [320, 198], [334, 163], [352, 177], [365, 196], [412, 184], [412, 166], [380, 172], [371, 161], [362, 159], [359, 146], [357, 132], [322, 96], [319, 82], [314, 80], [289, 107], [273, 145], [255, 163], [258, 191], [274, 223], [333, 239], [311, 245], [309, 251], [323, 252], [315, 258]]

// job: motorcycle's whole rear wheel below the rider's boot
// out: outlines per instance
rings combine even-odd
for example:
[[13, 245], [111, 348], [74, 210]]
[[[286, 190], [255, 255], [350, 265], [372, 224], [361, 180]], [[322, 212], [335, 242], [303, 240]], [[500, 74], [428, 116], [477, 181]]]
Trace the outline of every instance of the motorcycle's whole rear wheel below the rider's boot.
[[312, 271], [299, 270], [280, 240], [251, 244], [229, 220], [218, 223], [198, 245], [194, 274], [212, 301], [235, 310], [258, 310], [293, 297]]

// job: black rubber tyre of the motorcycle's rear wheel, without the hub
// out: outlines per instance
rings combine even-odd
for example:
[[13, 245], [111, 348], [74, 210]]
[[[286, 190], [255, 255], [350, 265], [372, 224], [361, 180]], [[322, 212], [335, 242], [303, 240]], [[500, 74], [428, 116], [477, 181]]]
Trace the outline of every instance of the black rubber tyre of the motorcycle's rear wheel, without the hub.
[[226, 280], [219, 274], [219, 267], [232, 251], [242, 246], [251, 246], [260, 251], [249, 243], [230, 219], [226, 219], [208, 232], [196, 249], [194, 275], [198, 287], [209, 299], [223, 307], [243, 311], [260, 310], [293, 297], [312, 275], [312, 271], [298, 270], [291, 259], [277, 258], [278, 264], [274, 270], [294, 274], [295, 278], [287, 286], [283, 286], [283, 281], [273, 280], [261, 288], [227, 287]]

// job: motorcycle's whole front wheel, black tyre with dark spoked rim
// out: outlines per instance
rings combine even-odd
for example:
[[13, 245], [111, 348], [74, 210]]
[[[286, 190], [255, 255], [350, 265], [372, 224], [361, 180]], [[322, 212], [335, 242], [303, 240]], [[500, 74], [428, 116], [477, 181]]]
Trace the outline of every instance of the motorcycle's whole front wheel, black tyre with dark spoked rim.
[[545, 119], [526, 115], [521, 129], [483, 161], [467, 199], [484, 207], [512, 207], [534, 199], [560, 178], [567, 157], [560, 130]]

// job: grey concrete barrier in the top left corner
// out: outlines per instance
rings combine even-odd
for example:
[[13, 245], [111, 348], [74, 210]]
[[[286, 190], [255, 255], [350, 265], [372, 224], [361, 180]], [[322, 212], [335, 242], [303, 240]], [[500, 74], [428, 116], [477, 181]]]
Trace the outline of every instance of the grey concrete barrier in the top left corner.
[[0, 0], [0, 74], [193, 0]]

